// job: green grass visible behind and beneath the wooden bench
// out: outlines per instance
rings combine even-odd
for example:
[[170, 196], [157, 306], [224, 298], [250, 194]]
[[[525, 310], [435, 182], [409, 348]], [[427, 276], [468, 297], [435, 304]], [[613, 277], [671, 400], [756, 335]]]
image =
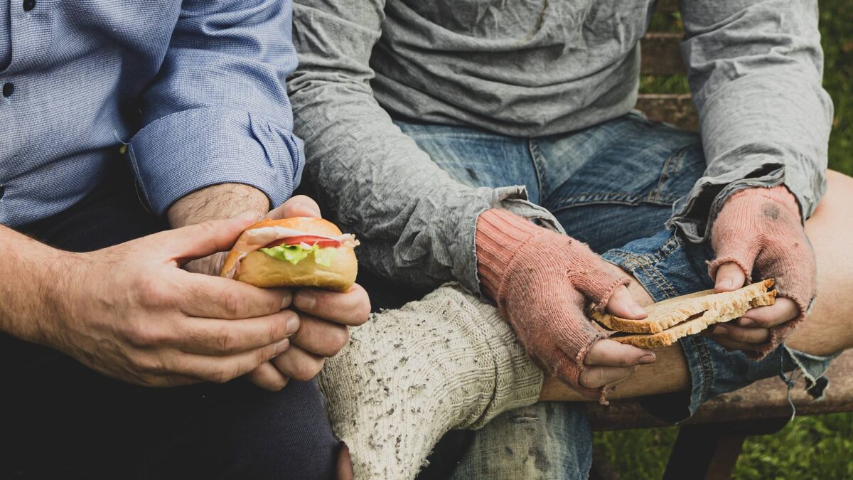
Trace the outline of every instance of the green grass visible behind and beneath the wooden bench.
[[[844, 0], [821, 0], [820, 6], [824, 87], [835, 105], [829, 167], [853, 175], [853, 9]], [[659, 15], [653, 29], [672, 30], [677, 22], [677, 17]], [[683, 77], [646, 77], [641, 90], [684, 93], [688, 85]], [[663, 475], [676, 435], [676, 428], [601, 432], [595, 434], [595, 448], [621, 478], [656, 479]], [[853, 478], [853, 413], [800, 417], [775, 435], [748, 438], [734, 477]]]

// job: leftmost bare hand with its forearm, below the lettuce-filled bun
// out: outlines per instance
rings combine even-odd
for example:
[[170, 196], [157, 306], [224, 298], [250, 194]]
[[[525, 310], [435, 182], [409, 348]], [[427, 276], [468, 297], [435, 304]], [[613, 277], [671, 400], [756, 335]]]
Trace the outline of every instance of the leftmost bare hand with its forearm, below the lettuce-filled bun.
[[0, 325], [130, 383], [225, 382], [251, 372], [287, 349], [299, 327], [281, 311], [290, 293], [181, 268], [228, 249], [251, 223], [211, 221], [83, 254], [0, 227], [12, 260], [4, 277], [17, 279], [3, 292]]

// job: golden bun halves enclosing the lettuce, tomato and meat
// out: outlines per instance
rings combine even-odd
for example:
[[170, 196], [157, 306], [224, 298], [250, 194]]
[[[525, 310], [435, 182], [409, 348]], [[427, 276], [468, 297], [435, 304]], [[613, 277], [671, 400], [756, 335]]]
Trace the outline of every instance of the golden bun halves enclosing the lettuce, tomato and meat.
[[[325, 237], [341, 235], [337, 225], [323, 219], [295, 217], [259, 221], [243, 231], [235, 243], [235, 247], [225, 258], [222, 272], [220, 272], [221, 276], [225, 276], [226, 272], [229, 272], [240, 260], [242, 252], [238, 246], [241, 245], [241, 240], [245, 240], [247, 232], [266, 226], [283, 226]], [[351, 247], [343, 245], [335, 250], [336, 253], [330, 266], [322, 266], [316, 263], [313, 252], [294, 265], [289, 261], [278, 260], [264, 254], [264, 252], [255, 250], [240, 260], [240, 267], [236, 269], [234, 279], [257, 287], [317, 287], [346, 291], [356, 281], [358, 272], [356, 254]]]

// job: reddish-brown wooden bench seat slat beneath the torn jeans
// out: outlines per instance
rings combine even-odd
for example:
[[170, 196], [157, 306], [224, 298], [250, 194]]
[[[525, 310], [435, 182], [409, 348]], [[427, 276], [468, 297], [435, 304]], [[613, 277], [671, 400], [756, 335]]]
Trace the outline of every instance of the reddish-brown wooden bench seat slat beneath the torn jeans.
[[[833, 361], [827, 377], [830, 386], [821, 401], [810, 401], [800, 378], [791, 390], [798, 415], [853, 411], [853, 350], [848, 350]], [[750, 386], [720, 395], [705, 402], [685, 424], [713, 424], [745, 419], [779, 419], [791, 415], [786, 397], [785, 383], [779, 378], [766, 378]], [[588, 403], [589, 417], [593, 430], [626, 430], [666, 426], [655, 419], [636, 402], [631, 400], [611, 401], [609, 407]]]

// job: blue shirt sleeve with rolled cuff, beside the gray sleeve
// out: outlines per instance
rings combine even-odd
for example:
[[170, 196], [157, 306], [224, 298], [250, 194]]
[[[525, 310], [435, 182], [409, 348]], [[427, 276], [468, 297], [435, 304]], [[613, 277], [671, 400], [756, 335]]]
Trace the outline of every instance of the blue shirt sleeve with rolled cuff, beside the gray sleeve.
[[273, 206], [304, 165], [283, 85], [297, 57], [290, 0], [182, 3], [129, 156], [156, 214], [188, 193], [249, 184]]

